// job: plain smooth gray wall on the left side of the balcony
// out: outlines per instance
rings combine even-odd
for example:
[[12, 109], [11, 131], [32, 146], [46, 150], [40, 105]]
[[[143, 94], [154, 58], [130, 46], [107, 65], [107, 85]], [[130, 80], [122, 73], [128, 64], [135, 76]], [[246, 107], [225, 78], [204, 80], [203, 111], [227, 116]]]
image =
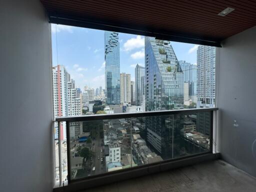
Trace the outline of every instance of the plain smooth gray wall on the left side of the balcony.
[[0, 191], [52, 191], [50, 25], [39, 0], [0, 1]]

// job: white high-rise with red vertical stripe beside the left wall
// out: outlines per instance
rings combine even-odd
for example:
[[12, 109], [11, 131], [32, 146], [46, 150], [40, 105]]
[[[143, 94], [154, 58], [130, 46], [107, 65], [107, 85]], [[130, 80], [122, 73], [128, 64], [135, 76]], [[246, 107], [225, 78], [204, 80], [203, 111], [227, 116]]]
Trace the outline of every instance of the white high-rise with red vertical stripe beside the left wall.
[[[77, 89], [74, 80], [70, 79], [70, 74], [64, 66], [52, 67], [52, 87], [53, 87], [53, 112], [54, 116], [70, 116], [81, 114], [81, 103], [77, 97]], [[70, 128], [72, 124], [70, 124]], [[57, 123], [54, 124], [55, 138], [57, 138]], [[66, 138], [65, 122], [60, 124], [60, 139]]]

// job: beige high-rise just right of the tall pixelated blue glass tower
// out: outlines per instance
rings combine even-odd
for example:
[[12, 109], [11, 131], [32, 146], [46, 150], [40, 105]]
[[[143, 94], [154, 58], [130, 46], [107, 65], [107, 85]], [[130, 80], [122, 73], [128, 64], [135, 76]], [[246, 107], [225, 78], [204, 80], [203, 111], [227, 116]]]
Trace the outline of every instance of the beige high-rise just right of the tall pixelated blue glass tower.
[[130, 74], [120, 73], [120, 102], [130, 103]]

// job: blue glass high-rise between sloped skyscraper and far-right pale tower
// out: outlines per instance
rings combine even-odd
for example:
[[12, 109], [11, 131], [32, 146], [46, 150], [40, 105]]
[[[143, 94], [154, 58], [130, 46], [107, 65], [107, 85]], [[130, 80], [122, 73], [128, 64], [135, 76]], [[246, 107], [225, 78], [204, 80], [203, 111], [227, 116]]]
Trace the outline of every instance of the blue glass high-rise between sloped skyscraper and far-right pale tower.
[[185, 60], [179, 60], [179, 65], [184, 73], [184, 82], [188, 82], [188, 96], [192, 102], [197, 101], [196, 99], [196, 64], [191, 64]]

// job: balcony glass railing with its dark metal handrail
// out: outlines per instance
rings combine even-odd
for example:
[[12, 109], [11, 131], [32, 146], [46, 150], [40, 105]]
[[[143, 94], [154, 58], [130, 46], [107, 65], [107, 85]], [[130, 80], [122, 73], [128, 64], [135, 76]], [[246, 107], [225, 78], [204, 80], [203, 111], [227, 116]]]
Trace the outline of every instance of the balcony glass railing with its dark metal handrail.
[[56, 118], [59, 126], [66, 125], [68, 182], [212, 153], [215, 110], [201, 108]]

